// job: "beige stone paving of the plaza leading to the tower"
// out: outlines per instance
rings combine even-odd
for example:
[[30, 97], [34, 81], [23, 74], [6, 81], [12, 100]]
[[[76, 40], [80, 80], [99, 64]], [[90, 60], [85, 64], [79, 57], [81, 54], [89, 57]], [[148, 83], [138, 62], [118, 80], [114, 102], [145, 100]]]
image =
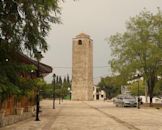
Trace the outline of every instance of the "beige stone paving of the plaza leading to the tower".
[[41, 121], [30, 118], [0, 130], [162, 130], [162, 110], [116, 108], [107, 101], [41, 102]]

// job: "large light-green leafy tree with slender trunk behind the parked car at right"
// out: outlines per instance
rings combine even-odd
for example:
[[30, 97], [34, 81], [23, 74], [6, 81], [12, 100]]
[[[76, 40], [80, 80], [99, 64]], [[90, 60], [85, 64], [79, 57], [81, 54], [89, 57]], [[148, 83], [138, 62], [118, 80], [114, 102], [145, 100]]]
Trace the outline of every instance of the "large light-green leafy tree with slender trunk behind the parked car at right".
[[113, 56], [109, 63], [126, 79], [140, 73], [147, 82], [151, 105], [157, 76], [162, 72], [162, 12], [143, 10], [126, 25], [126, 32], [109, 38]]

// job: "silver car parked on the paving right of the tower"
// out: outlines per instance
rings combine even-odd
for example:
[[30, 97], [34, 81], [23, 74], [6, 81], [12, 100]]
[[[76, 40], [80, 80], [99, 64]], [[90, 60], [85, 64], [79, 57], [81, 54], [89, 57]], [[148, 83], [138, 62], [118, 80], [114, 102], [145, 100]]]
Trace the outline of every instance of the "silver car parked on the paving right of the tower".
[[128, 94], [120, 94], [115, 98], [114, 104], [116, 105], [116, 107], [136, 107], [137, 101], [134, 96]]

